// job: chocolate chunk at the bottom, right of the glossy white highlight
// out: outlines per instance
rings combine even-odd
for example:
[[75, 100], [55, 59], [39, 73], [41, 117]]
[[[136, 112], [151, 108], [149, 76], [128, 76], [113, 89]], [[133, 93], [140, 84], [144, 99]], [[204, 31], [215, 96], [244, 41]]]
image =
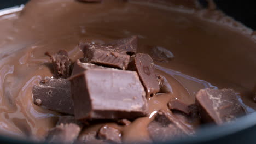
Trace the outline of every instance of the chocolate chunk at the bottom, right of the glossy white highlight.
[[167, 113], [162, 110], [156, 113], [152, 122], [148, 125], [149, 136], [155, 142], [165, 142], [170, 139], [177, 139], [194, 133], [185, 126], [172, 113]]

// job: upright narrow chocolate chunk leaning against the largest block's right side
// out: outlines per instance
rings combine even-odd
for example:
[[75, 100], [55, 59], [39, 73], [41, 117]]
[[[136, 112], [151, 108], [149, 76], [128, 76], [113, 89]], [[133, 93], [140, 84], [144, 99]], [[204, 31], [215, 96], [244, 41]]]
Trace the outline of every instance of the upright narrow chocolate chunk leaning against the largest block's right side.
[[147, 97], [152, 97], [159, 92], [158, 80], [154, 72], [154, 62], [148, 54], [138, 53], [135, 57], [131, 57], [128, 69], [138, 72], [146, 89]]

